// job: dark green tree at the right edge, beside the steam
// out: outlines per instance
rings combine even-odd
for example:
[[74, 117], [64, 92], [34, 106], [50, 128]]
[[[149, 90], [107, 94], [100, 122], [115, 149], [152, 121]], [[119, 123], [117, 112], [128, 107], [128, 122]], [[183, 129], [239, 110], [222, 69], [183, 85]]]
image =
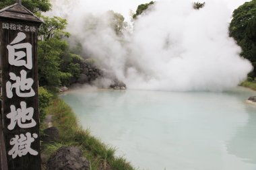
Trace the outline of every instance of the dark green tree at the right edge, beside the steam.
[[[256, 0], [244, 3], [233, 12], [230, 23], [230, 36], [241, 46], [241, 56], [249, 59], [256, 68]], [[256, 69], [249, 73], [256, 77]]]

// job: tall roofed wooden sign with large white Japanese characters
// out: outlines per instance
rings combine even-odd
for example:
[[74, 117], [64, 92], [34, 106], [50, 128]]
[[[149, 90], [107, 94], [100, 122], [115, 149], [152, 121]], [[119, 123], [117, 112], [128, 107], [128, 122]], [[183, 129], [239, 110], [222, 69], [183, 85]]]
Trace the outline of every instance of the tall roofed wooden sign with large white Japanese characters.
[[37, 32], [40, 19], [19, 3], [0, 11], [3, 136], [9, 170], [40, 169]]

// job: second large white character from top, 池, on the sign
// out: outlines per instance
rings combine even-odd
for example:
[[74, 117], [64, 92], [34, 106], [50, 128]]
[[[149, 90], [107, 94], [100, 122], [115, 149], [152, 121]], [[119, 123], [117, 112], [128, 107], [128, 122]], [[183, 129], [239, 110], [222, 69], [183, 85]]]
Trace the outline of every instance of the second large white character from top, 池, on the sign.
[[[35, 95], [34, 89], [32, 89], [32, 85], [34, 80], [27, 77], [27, 72], [22, 70], [20, 71], [20, 77], [16, 76], [14, 73], [9, 73], [10, 79], [12, 81], [16, 81], [15, 83], [11, 84], [10, 81], [6, 83], [6, 94], [7, 97], [10, 99], [13, 97], [13, 88], [15, 88], [16, 94], [19, 97], [32, 97]], [[29, 91], [22, 93], [21, 91]]]

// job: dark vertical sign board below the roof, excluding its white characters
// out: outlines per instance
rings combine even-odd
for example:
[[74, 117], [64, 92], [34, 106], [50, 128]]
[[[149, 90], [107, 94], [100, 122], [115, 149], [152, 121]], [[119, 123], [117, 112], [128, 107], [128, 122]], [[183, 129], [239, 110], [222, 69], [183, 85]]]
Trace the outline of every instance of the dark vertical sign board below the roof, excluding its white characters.
[[[4, 11], [5, 12], [5, 11]], [[3, 13], [4, 13], [3, 12]], [[16, 17], [17, 18], [17, 17]], [[16, 19], [15, 18], [15, 19]], [[16, 26], [15, 29], [10, 26]], [[18, 25], [22, 26], [22, 30], [18, 30]], [[7, 20], [6, 18], [0, 18], [0, 41], [1, 41], [1, 80], [2, 80], [2, 94], [3, 94], [3, 134], [5, 138], [5, 148], [7, 152], [7, 165], [9, 170], [40, 170], [40, 135], [39, 135], [39, 115], [38, 115], [38, 73], [37, 73], [37, 30], [38, 24], [35, 22], [26, 22], [17, 20]], [[25, 28], [28, 27], [28, 30]], [[36, 28], [32, 30], [30, 28]], [[8, 59], [9, 50], [7, 49], [8, 45], [11, 45], [11, 42], [18, 37], [18, 34], [22, 33], [24, 40], [21, 42], [15, 42], [13, 44], [24, 44], [29, 43], [32, 45], [32, 68], [28, 68], [25, 65], [15, 66], [11, 65]], [[25, 36], [24, 36], [25, 35]], [[23, 51], [27, 54], [28, 48], [19, 48], [18, 51]], [[27, 54], [28, 55], [28, 54]], [[26, 56], [28, 57], [28, 56]], [[33, 79], [31, 89], [34, 90], [35, 95], [30, 97], [21, 97], [18, 95], [15, 89], [12, 90], [13, 97], [7, 96], [7, 82], [17, 83], [17, 81], [12, 81], [9, 73], [13, 73], [15, 76], [21, 77], [22, 71], [26, 71], [26, 79]], [[15, 87], [17, 88], [17, 87]], [[20, 88], [20, 87], [19, 87]], [[31, 89], [24, 90], [23, 93], [28, 93]], [[22, 101], [26, 102], [26, 108], [34, 108], [32, 115], [32, 120], [36, 122], [35, 126], [31, 128], [21, 128], [18, 124], [15, 124], [14, 128], [8, 128], [11, 124], [11, 118], [7, 118], [7, 114], [11, 111], [11, 105], [15, 106], [15, 110], [22, 108]], [[23, 111], [22, 111], [23, 112]], [[31, 120], [31, 121], [32, 121]], [[30, 121], [26, 121], [30, 123]], [[15, 137], [22, 138], [21, 134], [26, 135], [37, 134], [37, 138], [34, 138], [34, 141], [31, 142], [30, 148], [36, 151], [38, 154], [33, 155], [31, 153], [26, 153], [26, 155], [16, 155], [13, 158], [13, 154], [10, 154], [9, 151], [13, 149], [13, 144], [11, 140]], [[28, 137], [28, 136], [26, 136]], [[27, 138], [28, 139], [28, 138]]]

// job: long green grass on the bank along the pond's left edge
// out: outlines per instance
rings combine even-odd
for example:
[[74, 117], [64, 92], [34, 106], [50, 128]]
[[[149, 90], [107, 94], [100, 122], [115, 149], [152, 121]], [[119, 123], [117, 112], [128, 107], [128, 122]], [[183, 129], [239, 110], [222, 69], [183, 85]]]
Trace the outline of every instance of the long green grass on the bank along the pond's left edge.
[[71, 108], [61, 99], [55, 98], [46, 108], [46, 114], [53, 115], [53, 126], [59, 129], [60, 140], [47, 144], [42, 153], [51, 155], [61, 146], [79, 146], [90, 161], [90, 170], [135, 170], [123, 157], [115, 157], [115, 148], [107, 146], [83, 130]]

